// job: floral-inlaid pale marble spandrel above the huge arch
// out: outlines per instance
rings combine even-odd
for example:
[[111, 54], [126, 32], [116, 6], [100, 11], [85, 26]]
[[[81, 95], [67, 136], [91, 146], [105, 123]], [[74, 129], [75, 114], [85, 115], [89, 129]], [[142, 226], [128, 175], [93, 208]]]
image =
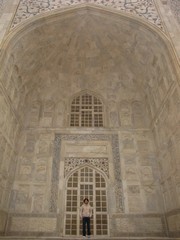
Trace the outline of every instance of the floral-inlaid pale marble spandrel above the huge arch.
[[80, 4], [93, 4], [135, 14], [163, 29], [154, 0], [21, 0], [11, 27], [40, 13]]

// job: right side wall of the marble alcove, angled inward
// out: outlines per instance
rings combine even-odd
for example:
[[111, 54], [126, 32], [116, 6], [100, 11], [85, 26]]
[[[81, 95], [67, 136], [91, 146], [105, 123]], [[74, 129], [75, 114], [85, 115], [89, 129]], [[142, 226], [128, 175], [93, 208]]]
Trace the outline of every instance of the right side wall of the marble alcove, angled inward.
[[172, 232], [178, 231], [180, 226], [178, 211], [180, 207], [179, 103], [180, 89], [176, 85], [153, 127], [165, 210], [168, 212], [169, 229]]

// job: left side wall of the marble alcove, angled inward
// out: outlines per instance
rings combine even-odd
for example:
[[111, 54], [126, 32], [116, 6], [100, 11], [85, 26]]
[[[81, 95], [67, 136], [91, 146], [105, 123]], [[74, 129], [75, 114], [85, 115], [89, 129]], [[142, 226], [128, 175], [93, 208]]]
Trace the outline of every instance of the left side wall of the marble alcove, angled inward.
[[17, 162], [20, 125], [0, 86], [0, 232], [4, 231]]

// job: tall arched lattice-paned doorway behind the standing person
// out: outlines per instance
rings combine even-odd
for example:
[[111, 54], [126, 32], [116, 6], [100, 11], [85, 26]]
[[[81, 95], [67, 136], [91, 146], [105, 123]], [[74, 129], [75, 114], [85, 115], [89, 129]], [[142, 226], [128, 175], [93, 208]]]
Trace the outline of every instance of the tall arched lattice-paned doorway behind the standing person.
[[82, 234], [79, 209], [85, 197], [89, 198], [93, 207], [91, 234], [107, 236], [107, 183], [99, 171], [88, 165], [79, 168], [67, 179], [64, 234], [70, 236]]

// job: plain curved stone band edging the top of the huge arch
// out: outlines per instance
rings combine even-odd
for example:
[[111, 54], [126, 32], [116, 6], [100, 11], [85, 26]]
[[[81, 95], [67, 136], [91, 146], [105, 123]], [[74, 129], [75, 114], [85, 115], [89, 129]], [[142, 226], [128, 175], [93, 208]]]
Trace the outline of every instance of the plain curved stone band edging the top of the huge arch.
[[[85, 11], [88, 11], [90, 13], [94, 14], [104, 14], [104, 16], [109, 15], [116, 17], [118, 21], [127, 21], [131, 22], [133, 24], [136, 24], [139, 26], [140, 29], [144, 29], [145, 31], [148, 31], [149, 33], [154, 35], [154, 38], [158, 38], [158, 40], [161, 40], [161, 44], [164, 45], [166, 54], [168, 55], [170, 62], [172, 62], [172, 67], [174, 68], [174, 71], [176, 73], [176, 76], [178, 79], [180, 78], [180, 62], [177, 57], [175, 48], [172, 44], [171, 39], [166, 35], [164, 32], [162, 32], [157, 26], [153, 25], [152, 23], [147, 22], [146, 20], [143, 20], [135, 15], [132, 15], [130, 13], [124, 13], [120, 12], [115, 9], [108, 9], [106, 7], [102, 6], [94, 6], [91, 4], [82, 4], [78, 6], [70, 6], [66, 9], [58, 9], [58, 10], [52, 10], [50, 12], [42, 13], [38, 16], [33, 17], [32, 19], [27, 19], [26, 21], [20, 23], [17, 27], [12, 29], [7, 36], [5, 37], [4, 41], [0, 44], [0, 62], [2, 61], [5, 56], [9, 55], [7, 54], [6, 50], [8, 48], [13, 48], [16, 43], [23, 38], [26, 34], [30, 33], [32, 30], [36, 29], [36, 27], [40, 27], [43, 25], [46, 25], [48, 23], [53, 23], [57, 21], [63, 21], [66, 17], [74, 16], [75, 14], [84, 13]], [[7, 54], [7, 55], [6, 55]]]

